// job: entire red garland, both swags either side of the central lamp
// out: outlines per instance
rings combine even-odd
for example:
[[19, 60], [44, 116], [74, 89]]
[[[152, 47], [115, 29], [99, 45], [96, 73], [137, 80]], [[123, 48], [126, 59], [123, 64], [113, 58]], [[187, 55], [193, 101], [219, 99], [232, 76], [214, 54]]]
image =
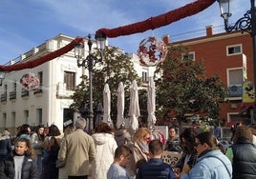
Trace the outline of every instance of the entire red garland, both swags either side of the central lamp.
[[[100, 29], [96, 30], [96, 34], [103, 33], [109, 38], [118, 37], [121, 35], [130, 35], [134, 33], [143, 32], [146, 30], [155, 30], [162, 26], [169, 25], [173, 22], [176, 22], [184, 17], [194, 15], [202, 10], [205, 10], [209, 6], [211, 6], [216, 0], [198, 0], [193, 3], [187, 4], [180, 9], [171, 10], [166, 13], [163, 13], [156, 17], [150, 17], [144, 21], [140, 21], [134, 24], [118, 27], [116, 29]], [[32, 69], [37, 67], [43, 63], [46, 63], [54, 58], [73, 50], [76, 43], [83, 43], [82, 37], [77, 37], [67, 46], [55, 50], [45, 56], [39, 57], [37, 59], [30, 60], [25, 63], [17, 63], [10, 66], [0, 66], [0, 70], [3, 71], [12, 71], [12, 70], [24, 70], [24, 69]]]

